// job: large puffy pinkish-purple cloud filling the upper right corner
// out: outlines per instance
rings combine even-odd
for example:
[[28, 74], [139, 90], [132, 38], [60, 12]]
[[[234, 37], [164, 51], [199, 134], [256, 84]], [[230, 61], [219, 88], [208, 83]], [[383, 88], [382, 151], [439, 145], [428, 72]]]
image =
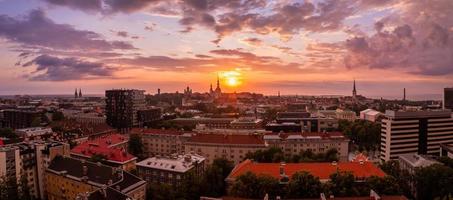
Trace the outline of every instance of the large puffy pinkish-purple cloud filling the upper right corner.
[[375, 24], [375, 34], [346, 41], [346, 66], [453, 74], [453, 2], [414, 0], [402, 5], [401, 12]]

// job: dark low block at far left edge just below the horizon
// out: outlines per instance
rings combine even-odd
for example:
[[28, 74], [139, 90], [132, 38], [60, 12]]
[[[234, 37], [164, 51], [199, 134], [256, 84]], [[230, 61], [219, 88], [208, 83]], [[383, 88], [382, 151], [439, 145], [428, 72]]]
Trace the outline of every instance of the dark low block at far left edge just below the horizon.
[[41, 113], [35, 110], [3, 110], [3, 127], [13, 129], [31, 127], [33, 121], [40, 117]]

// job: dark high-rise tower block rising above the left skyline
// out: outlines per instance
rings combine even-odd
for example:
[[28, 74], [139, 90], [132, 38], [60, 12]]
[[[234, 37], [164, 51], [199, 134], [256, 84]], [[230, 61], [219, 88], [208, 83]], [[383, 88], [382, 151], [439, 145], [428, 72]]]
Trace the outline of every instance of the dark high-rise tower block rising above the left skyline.
[[107, 124], [122, 131], [139, 126], [138, 111], [145, 109], [144, 90], [115, 89], [105, 91]]

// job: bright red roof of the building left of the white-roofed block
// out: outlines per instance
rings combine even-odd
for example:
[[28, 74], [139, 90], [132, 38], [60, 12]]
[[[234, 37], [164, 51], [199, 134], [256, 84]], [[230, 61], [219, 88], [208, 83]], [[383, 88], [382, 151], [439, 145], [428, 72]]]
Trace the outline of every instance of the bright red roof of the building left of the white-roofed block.
[[107, 161], [125, 163], [135, 160], [136, 157], [127, 153], [126, 150], [116, 147], [118, 144], [127, 142], [127, 138], [120, 134], [101, 136], [86, 141], [71, 149], [71, 154], [90, 158], [95, 154], [102, 154]]

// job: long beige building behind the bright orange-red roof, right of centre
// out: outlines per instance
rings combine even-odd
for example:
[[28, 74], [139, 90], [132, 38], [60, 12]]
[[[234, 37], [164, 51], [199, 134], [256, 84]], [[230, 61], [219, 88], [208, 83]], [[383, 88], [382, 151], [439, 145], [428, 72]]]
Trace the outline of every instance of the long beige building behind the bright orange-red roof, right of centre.
[[340, 132], [272, 133], [264, 135], [264, 141], [270, 147], [282, 149], [289, 156], [308, 150], [313, 153], [325, 153], [330, 149], [336, 149], [340, 161], [348, 160], [349, 139]]

